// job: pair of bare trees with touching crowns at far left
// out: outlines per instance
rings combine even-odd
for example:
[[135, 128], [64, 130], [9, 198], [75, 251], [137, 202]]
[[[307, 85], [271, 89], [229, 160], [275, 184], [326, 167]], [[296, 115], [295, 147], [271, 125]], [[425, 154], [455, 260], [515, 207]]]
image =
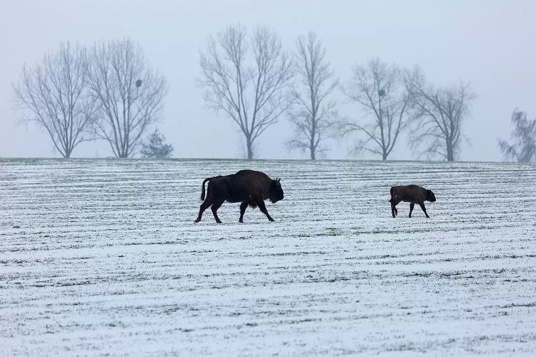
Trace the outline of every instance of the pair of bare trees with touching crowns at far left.
[[117, 158], [128, 158], [162, 114], [167, 81], [129, 39], [91, 48], [67, 41], [40, 63], [24, 65], [13, 88], [22, 119], [44, 128], [64, 158], [94, 139], [105, 140]]

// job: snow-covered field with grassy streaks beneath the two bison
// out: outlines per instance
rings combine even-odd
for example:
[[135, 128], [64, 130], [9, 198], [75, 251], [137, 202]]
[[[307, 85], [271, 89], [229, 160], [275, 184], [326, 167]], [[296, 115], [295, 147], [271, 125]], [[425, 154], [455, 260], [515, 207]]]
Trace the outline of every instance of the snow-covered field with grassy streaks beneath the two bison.
[[[246, 168], [275, 222], [194, 224]], [[0, 356], [534, 356], [535, 203], [535, 165], [0, 159]]]

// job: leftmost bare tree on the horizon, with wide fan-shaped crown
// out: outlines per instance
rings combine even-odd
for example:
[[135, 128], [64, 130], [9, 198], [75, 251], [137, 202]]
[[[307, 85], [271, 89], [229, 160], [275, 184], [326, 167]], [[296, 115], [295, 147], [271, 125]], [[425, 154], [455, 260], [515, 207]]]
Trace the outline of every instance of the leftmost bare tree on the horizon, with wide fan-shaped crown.
[[24, 65], [19, 83], [13, 85], [22, 120], [44, 128], [64, 158], [91, 139], [96, 105], [87, 95], [86, 63], [86, 50], [65, 42], [45, 54], [40, 64]]

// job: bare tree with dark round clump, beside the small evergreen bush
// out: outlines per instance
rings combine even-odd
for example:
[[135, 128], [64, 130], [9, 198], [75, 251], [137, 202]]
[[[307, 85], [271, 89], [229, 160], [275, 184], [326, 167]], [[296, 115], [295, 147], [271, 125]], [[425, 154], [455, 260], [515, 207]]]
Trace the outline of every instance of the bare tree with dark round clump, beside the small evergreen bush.
[[130, 39], [95, 44], [87, 71], [91, 96], [99, 103], [97, 136], [108, 141], [116, 157], [133, 156], [142, 134], [161, 115], [166, 79]]

